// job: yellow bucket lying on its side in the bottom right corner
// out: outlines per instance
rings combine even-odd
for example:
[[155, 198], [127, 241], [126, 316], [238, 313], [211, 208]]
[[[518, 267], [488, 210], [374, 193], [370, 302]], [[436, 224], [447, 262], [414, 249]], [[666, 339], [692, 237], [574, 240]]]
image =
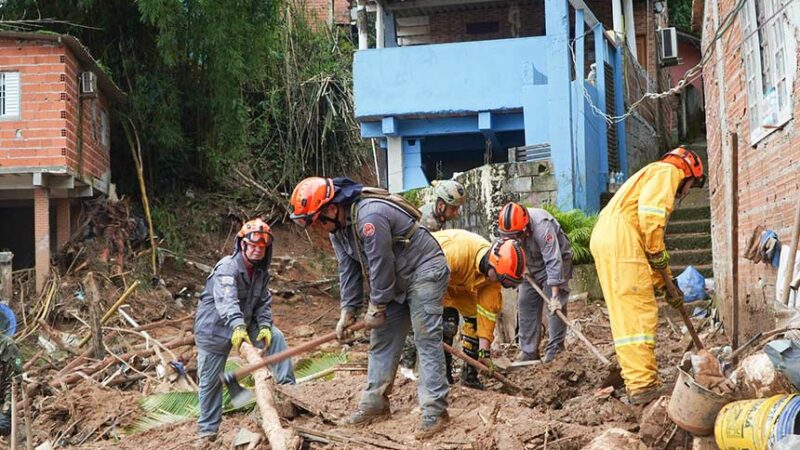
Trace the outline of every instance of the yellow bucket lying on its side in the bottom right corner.
[[717, 415], [714, 437], [721, 450], [766, 450], [770, 441], [792, 434], [798, 412], [800, 399], [794, 394], [729, 403]]

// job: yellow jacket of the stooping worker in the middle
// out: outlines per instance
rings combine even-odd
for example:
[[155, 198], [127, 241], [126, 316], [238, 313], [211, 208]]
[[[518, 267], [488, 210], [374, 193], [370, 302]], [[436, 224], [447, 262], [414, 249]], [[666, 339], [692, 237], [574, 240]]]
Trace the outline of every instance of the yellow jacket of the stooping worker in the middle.
[[433, 237], [442, 247], [450, 267], [450, 282], [442, 302], [445, 308], [456, 308], [464, 317], [462, 340], [475, 345], [476, 337], [492, 342], [494, 325], [497, 314], [503, 307], [503, 299], [500, 283], [489, 280], [479, 270], [481, 259], [489, 251], [491, 244], [483, 237], [466, 230], [437, 231], [433, 233]]

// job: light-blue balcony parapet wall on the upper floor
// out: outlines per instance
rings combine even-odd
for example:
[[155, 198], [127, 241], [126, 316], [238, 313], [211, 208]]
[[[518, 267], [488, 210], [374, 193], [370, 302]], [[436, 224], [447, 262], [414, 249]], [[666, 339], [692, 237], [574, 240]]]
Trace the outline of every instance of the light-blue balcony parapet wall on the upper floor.
[[361, 50], [353, 61], [356, 118], [502, 111], [544, 82], [544, 36]]

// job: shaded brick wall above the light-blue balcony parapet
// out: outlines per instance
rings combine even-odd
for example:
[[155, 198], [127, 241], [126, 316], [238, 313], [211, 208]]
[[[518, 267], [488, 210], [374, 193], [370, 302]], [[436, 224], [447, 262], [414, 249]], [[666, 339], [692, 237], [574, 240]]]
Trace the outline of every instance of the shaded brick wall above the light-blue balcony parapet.
[[[467, 34], [467, 24], [497, 22], [496, 33]], [[519, 6], [519, 36], [543, 36], [545, 33], [544, 2]], [[509, 7], [487, 7], [470, 11], [453, 11], [430, 15], [431, 43], [484, 41], [512, 37]]]

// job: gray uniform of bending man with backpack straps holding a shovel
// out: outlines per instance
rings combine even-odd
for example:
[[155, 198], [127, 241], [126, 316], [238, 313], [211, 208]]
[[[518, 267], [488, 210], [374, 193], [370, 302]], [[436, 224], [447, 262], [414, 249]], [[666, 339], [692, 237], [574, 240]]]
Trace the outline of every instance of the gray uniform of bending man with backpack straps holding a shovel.
[[[367, 386], [359, 409], [389, 408], [403, 342], [413, 328], [420, 359], [419, 405], [423, 416], [438, 417], [447, 409], [449, 391], [442, 347], [442, 297], [450, 276], [444, 253], [428, 230], [387, 201], [356, 199], [354, 208], [342, 206], [347, 224], [331, 233], [339, 260], [341, 307], [355, 312], [364, 305], [364, 274], [369, 301], [386, 305], [384, 324], [370, 333]], [[407, 242], [397, 240], [412, 227], [416, 231]]]

